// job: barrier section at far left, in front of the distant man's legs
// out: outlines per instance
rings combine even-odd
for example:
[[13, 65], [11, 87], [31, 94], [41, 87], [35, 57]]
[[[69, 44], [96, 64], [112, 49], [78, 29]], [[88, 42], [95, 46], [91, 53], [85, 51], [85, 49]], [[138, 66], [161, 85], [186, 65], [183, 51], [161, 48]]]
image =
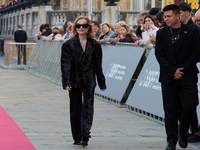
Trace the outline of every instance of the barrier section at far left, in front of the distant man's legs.
[[4, 50], [4, 65], [8, 68], [23, 68], [36, 43], [6, 42]]

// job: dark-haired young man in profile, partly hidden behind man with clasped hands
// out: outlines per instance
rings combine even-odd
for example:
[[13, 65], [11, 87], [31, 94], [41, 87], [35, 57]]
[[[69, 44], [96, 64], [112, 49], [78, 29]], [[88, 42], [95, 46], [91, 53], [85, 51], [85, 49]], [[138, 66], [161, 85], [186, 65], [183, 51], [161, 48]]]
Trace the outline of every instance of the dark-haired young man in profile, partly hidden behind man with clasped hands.
[[[189, 25], [191, 27], [193, 27], [194, 29], [196, 29], [196, 31], [199, 33], [199, 28], [197, 27], [197, 25], [192, 21], [191, 19], [191, 7], [188, 3], [180, 3], [178, 5], [179, 10], [180, 10], [180, 21], [183, 24]], [[200, 35], [200, 33], [199, 33]], [[188, 142], [192, 143], [192, 142], [200, 142], [200, 137], [199, 137], [199, 121], [198, 121], [198, 117], [197, 117], [197, 112], [195, 111], [195, 117], [194, 120], [192, 121], [191, 124], [191, 134], [188, 135]]]

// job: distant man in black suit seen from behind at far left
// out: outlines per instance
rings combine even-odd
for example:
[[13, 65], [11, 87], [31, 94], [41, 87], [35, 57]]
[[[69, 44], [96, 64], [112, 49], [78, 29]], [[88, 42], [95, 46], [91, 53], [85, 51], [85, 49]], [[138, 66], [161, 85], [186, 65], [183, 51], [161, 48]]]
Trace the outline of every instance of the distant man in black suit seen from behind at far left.
[[[27, 41], [27, 34], [26, 31], [21, 29], [21, 26], [17, 26], [17, 31], [14, 33], [14, 39], [16, 43], [26, 43]], [[17, 45], [18, 48], [18, 65], [21, 64], [20, 52], [23, 54], [23, 64], [26, 65], [26, 45]]]

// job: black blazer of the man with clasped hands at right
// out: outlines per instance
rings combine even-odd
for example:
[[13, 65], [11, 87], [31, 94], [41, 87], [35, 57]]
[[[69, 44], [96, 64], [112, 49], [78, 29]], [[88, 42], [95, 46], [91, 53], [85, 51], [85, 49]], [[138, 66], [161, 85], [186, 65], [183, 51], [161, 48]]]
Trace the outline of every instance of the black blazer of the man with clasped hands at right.
[[180, 82], [197, 82], [199, 72], [197, 54], [200, 49], [198, 32], [190, 26], [181, 24], [180, 38], [177, 40], [177, 49], [172, 44], [172, 35], [168, 26], [157, 32], [155, 55], [160, 64], [161, 83], [171, 83], [177, 68], [184, 68]]

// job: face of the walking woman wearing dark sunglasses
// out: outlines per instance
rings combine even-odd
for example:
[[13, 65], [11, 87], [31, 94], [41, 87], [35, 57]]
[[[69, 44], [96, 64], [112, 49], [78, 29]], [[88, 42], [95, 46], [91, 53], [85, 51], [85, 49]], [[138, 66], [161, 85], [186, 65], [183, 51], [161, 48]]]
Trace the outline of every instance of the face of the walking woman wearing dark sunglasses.
[[87, 35], [89, 29], [90, 29], [90, 26], [88, 25], [87, 20], [80, 19], [80, 20], [77, 21], [76, 32], [79, 35], [84, 35], [84, 34]]

